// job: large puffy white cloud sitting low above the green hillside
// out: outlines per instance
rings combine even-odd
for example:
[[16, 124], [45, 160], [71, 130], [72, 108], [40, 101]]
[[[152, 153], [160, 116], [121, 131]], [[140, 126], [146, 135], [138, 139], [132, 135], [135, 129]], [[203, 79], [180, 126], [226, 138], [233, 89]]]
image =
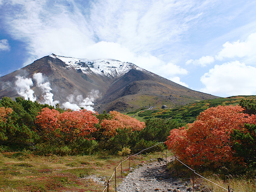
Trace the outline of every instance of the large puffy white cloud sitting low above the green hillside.
[[215, 65], [201, 77], [200, 91], [217, 96], [256, 94], [256, 68], [239, 61]]

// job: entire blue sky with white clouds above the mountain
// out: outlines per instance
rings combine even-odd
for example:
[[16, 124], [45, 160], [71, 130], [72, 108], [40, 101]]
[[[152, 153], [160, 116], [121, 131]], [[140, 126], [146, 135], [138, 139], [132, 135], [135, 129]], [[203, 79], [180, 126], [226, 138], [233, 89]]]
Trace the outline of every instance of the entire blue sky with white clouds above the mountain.
[[54, 53], [256, 95], [255, 10], [254, 0], [0, 0], [0, 76]]

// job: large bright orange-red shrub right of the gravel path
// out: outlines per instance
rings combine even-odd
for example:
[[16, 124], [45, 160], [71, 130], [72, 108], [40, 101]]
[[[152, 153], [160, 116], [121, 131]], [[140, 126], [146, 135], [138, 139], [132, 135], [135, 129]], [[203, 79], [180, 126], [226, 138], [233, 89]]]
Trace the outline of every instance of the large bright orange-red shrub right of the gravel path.
[[256, 124], [256, 115], [242, 113], [243, 110], [239, 105], [206, 109], [187, 128], [171, 130], [166, 145], [190, 166], [239, 162], [233, 156], [230, 134], [233, 129], [243, 130], [245, 123]]

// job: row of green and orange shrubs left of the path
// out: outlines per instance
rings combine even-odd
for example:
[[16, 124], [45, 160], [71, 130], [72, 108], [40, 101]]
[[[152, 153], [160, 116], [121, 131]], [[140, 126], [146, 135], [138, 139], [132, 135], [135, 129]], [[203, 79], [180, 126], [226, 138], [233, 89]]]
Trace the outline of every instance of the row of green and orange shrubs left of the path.
[[64, 110], [21, 97], [0, 100], [2, 152], [75, 155], [107, 151], [125, 155], [166, 141], [169, 131], [179, 126], [173, 120], [140, 122], [117, 111]]

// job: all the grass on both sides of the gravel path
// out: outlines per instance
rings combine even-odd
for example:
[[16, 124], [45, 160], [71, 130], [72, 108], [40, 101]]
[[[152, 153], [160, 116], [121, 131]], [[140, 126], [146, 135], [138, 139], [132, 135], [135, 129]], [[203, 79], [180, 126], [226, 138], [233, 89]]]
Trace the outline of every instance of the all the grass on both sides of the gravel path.
[[[161, 152], [143, 154], [143, 161], [162, 157]], [[23, 152], [4, 152], [0, 154], [0, 191], [1, 192], [101, 192], [104, 182], [109, 180], [121, 160], [126, 157], [110, 156], [105, 153], [84, 156], [35, 156]], [[130, 166], [141, 163], [141, 154], [132, 157]], [[176, 169], [177, 166], [177, 169]], [[175, 162], [168, 164], [173, 177], [192, 178], [192, 171]], [[129, 160], [122, 163], [123, 177], [129, 173]], [[200, 173], [210, 181], [233, 188], [234, 192], [255, 192], [256, 179], [243, 176], [226, 176], [205, 171]], [[197, 184], [212, 192], [226, 192], [215, 184], [196, 177]], [[117, 169], [117, 184], [121, 182], [121, 170]], [[110, 181], [110, 192], [115, 191], [115, 177]]]

